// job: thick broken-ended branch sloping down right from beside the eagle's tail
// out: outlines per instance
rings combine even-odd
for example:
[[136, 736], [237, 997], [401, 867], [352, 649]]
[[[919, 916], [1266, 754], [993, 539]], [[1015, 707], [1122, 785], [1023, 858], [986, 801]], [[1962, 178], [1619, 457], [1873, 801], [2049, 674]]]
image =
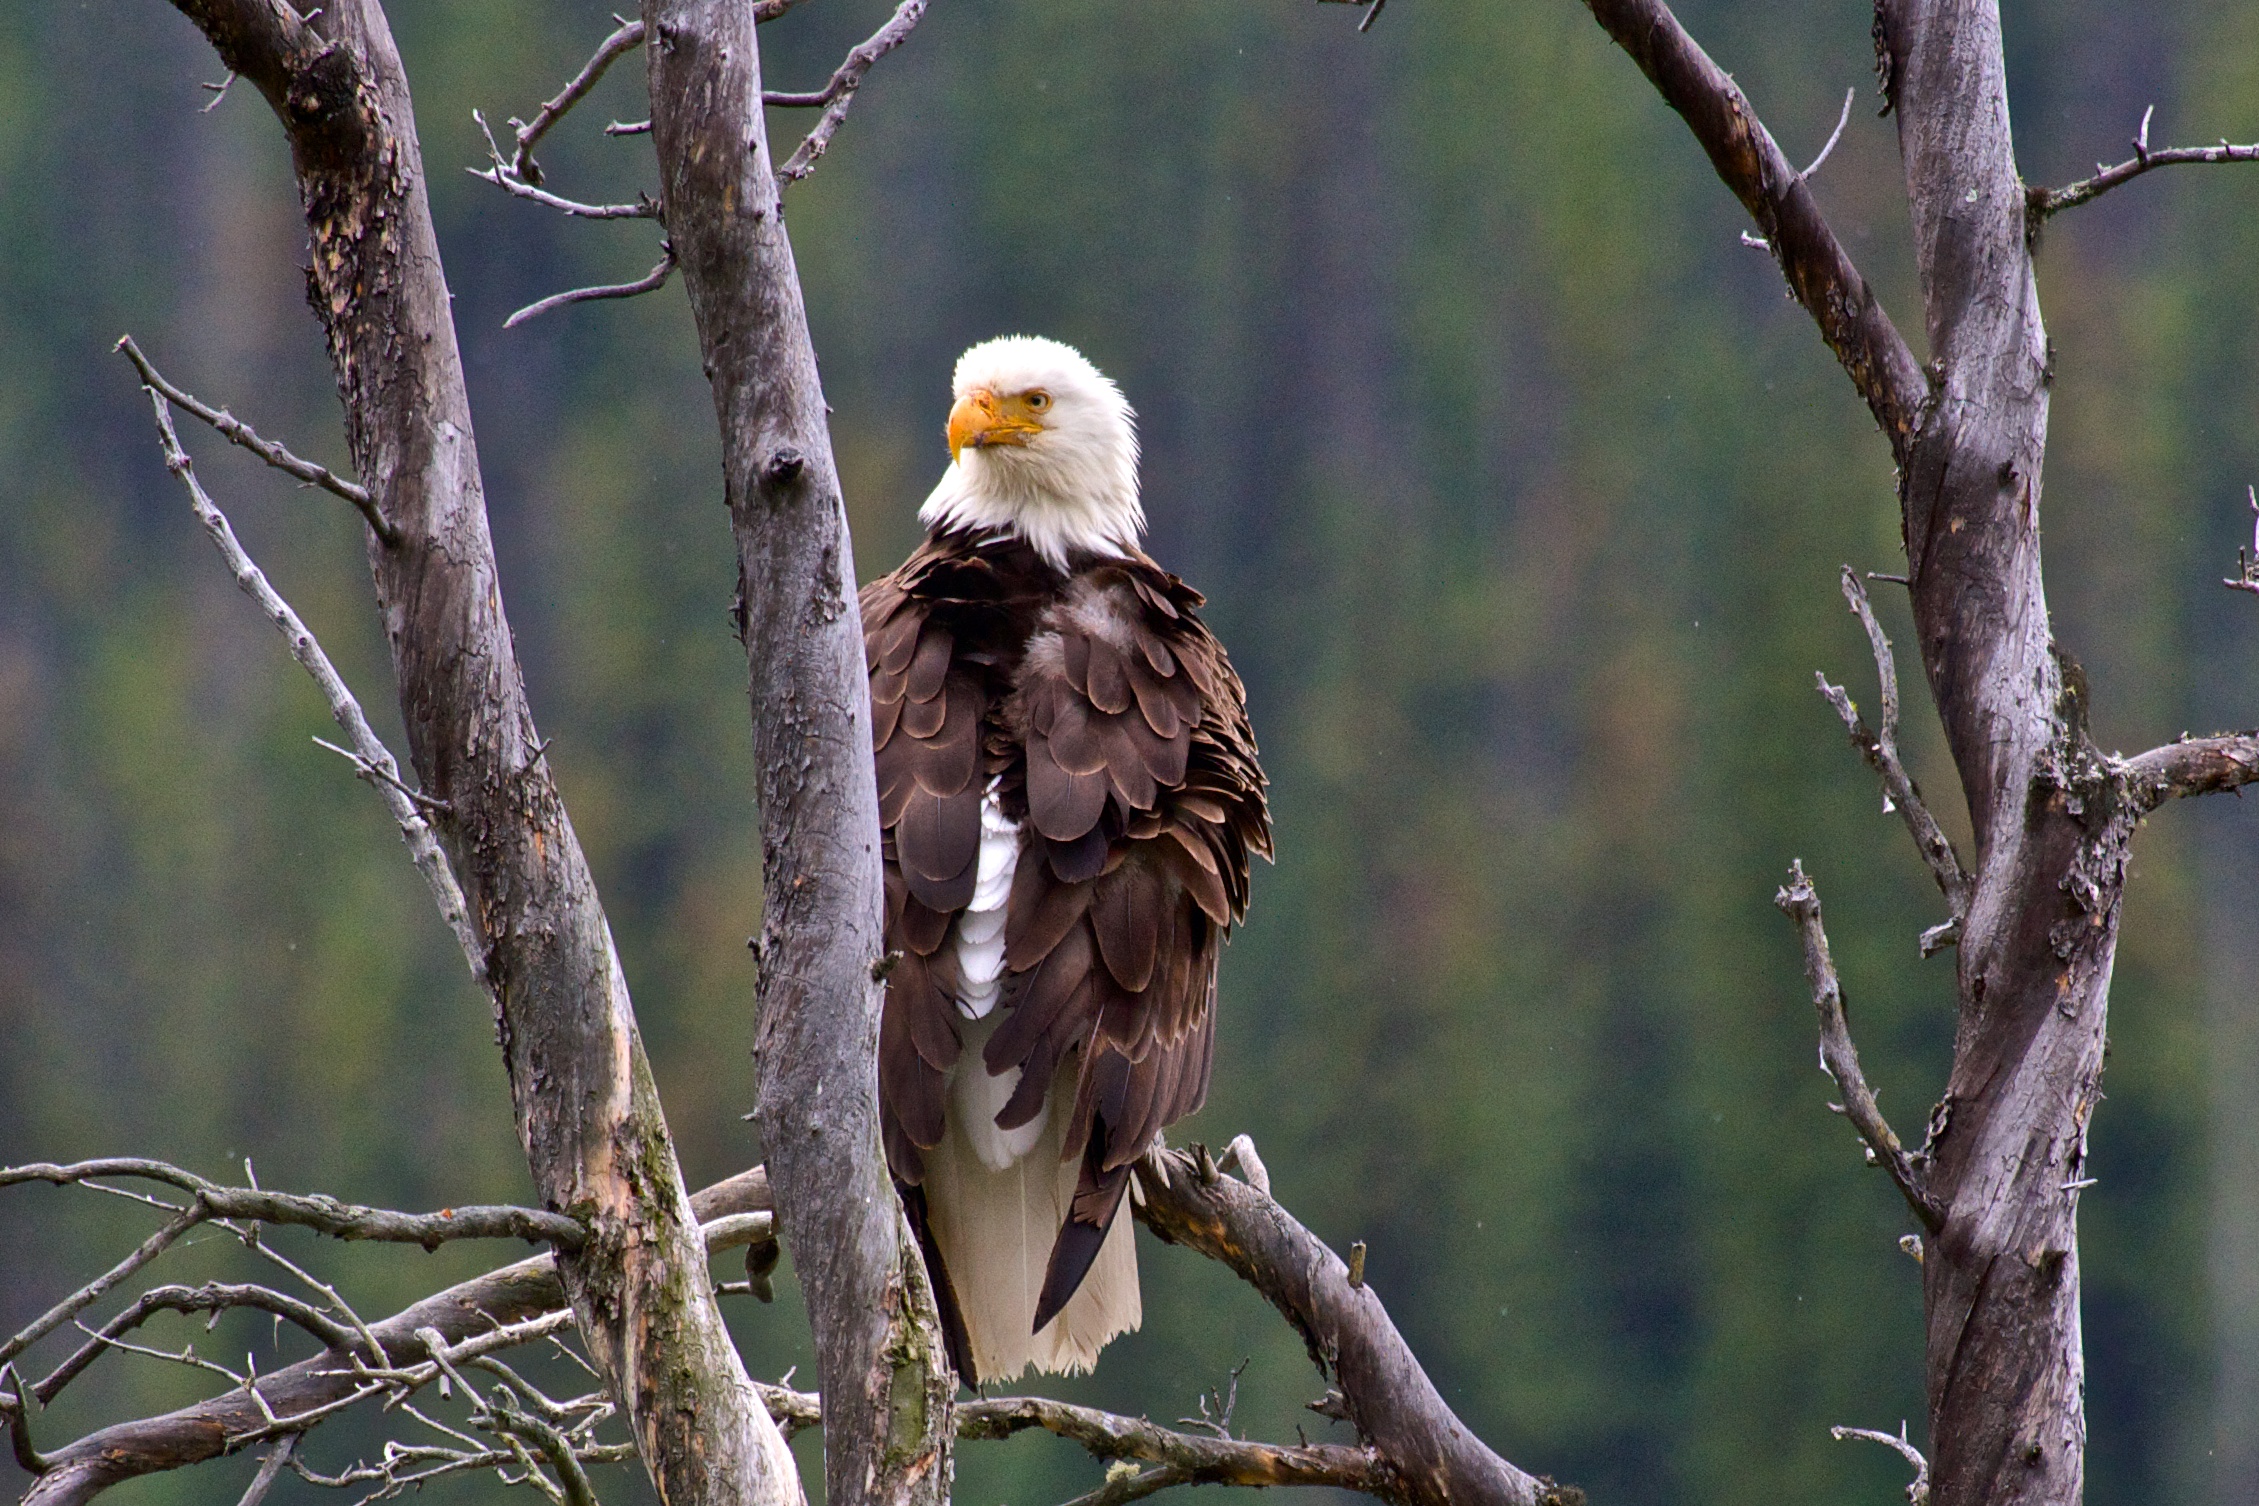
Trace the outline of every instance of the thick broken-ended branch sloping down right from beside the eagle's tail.
[[[1396, 1477], [1407, 1506], [1568, 1506], [1584, 1492], [1527, 1474], [1453, 1416], [1396, 1332], [1371, 1282], [1263, 1192], [1204, 1176], [1197, 1156], [1157, 1149], [1139, 1163], [1136, 1217], [1170, 1244], [1231, 1267], [1261, 1292], [1340, 1386], [1340, 1413]], [[1360, 1486], [1362, 1488], [1362, 1486]]]

